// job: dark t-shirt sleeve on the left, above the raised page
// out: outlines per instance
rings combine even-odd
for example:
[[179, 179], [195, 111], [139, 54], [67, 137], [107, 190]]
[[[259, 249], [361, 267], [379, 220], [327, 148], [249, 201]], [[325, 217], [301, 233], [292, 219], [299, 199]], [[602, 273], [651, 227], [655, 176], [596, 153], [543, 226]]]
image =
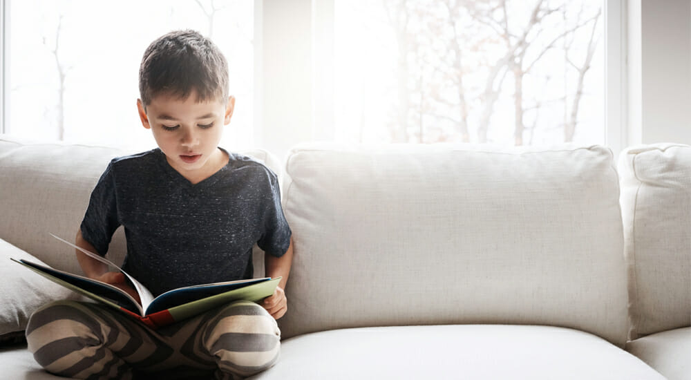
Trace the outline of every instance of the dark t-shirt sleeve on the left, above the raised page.
[[108, 244], [111, 243], [113, 233], [117, 227], [120, 227], [115, 190], [113, 162], [111, 162], [91, 191], [91, 198], [80, 227], [82, 238], [91, 243], [101, 256], [105, 256], [108, 252]]

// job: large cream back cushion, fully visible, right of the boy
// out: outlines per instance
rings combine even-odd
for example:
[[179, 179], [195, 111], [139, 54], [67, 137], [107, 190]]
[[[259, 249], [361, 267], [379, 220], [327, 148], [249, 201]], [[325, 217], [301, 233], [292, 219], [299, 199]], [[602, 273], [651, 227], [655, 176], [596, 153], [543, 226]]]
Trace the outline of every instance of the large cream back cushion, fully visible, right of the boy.
[[295, 249], [283, 337], [515, 323], [573, 327], [622, 346], [611, 151], [483, 149], [294, 149], [283, 186]]

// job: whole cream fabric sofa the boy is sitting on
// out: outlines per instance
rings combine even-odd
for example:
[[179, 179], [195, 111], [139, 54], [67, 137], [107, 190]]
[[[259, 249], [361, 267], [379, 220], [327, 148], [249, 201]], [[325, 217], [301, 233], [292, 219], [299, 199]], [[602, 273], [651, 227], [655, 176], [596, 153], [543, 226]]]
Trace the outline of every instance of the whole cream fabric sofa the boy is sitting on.
[[[73, 237], [124, 153], [0, 137], [2, 378], [57, 379], [11, 341], [73, 296], [7, 257], [79, 271], [48, 233]], [[247, 153], [283, 178], [295, 247], [281, 360], [254, 378], [691, 379], [690, 146], [618, 169], [601, 146]]]

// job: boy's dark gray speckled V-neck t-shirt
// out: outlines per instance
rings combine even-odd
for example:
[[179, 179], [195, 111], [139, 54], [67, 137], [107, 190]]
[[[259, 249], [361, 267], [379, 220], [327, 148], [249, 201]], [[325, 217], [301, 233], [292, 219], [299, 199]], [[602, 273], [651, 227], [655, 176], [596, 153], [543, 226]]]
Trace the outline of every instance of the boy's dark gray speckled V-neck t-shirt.
[[160, 149], [115, 158], [91, 193], [82, 236], [105, 255], [115, 229], [124, 226], [123, 269], [154, 296], [252, 278], [254, 243], [280, 257], [291, 232], [276, 175], [252, 158], [228, 155], [225, 167], [198, 184], [173, 169]]

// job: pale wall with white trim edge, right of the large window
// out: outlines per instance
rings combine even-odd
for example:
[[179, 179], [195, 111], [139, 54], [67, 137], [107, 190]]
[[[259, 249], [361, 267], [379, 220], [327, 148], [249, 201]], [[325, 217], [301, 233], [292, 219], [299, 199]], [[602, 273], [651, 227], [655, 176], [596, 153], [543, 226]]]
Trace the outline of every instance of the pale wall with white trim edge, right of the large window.
[[628, 144], [691, 144], [691, 1], [628, 6]]

